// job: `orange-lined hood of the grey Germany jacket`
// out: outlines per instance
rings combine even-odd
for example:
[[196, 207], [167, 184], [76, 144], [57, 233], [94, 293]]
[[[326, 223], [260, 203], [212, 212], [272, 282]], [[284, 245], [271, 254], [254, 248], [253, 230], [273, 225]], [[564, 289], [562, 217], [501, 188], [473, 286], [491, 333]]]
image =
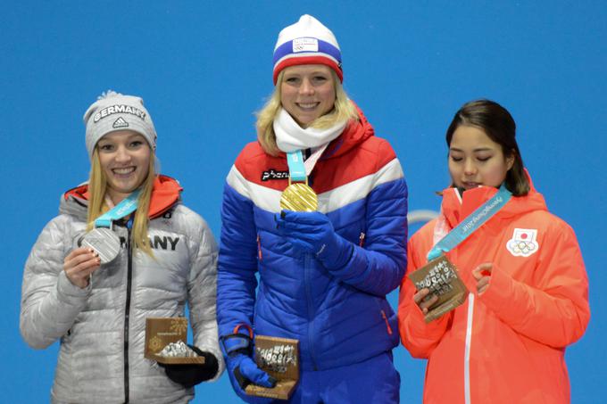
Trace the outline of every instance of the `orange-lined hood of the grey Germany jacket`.
[[[152, 198], [150, 200], [149, 218], [157, 218], [179, 202], [183, 190], [179, 182], [171, 177], [158, 175], [154, 179]], [[71, 188], [62, 194], [59, 213], [68, 214], [86, 220], [88, 209], [88, 184]]]

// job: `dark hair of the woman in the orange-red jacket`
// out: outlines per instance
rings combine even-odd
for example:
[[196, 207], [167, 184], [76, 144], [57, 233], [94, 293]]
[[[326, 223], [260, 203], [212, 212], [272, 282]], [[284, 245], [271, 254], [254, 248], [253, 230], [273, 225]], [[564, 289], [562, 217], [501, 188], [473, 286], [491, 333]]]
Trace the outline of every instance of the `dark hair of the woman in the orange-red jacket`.
[[506, 188], [515, 196], [526, 195], [530, 185], [525, 174], [523, 159], [520, 155], [519, 144], [516, 143], [516, 123], [502, 105], [490, 100], [475, 100], [464, 103], [460, 111], [455, 113], [451, 125], [447, 128], [447, 146], [455, 129], [461, 125], [482, 129], [496, 144], [502, 146], [504, 157], [514, 157], [514, 164], [506, 174]]

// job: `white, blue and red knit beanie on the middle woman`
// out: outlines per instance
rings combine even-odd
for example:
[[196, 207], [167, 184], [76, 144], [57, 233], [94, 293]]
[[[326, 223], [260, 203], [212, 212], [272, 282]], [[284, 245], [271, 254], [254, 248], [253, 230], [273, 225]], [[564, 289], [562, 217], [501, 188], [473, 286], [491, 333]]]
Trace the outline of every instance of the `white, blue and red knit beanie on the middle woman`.
[[281, 70], [298, 64], [324, 64], [335, 70], [340, 81], [344, 81], [341, 50], [336, 37], [308, 14], [279, 33], [274, 46], [274, 84]]

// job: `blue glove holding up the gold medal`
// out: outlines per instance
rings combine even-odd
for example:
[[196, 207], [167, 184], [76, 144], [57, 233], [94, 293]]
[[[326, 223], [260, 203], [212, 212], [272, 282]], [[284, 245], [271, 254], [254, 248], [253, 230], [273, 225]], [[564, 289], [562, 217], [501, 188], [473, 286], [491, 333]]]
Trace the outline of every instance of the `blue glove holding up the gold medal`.
[[315, 254], [327, 269], [343, 268], [352, 258], [353, 243], [337, 235], [327, 215], [282, 210], [276, 222], [280, 235], [295, 249]]

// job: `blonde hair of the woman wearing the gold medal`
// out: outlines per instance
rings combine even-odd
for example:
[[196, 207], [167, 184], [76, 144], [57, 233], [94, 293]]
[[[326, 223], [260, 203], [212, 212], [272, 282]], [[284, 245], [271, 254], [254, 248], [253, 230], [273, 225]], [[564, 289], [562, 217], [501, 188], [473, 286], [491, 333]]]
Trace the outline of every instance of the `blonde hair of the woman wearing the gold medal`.
[[[280, 100], [280, 87], [282, 86], [282, 80], [285, 74], [285, 70], [280, 71], [279, 78], [276, 80], [276, 86], [274, 92], [270, 95], [270, 99], [262, 110], [257, 111], [255, 116], [257, 122], [255, 128], [257, 128], [257, 139], [262, 144], [262, 148], [265, 153], [276, 156], [280, 150], [276, 145], [276, 134], [274, 133], [274, 119], [280, 111], [282, 102]], [[348, 95], [345, 94], [344, 87], [341, 84], [341, 80], [337, 77], [337, 73], [331, 70], [333, 76], [333, 83], [335, 87], [335, 106], [333, 110], [322, 115], [321, 117], [313, 120], [310, 124], [310, 128], [325, 129], [334, 126], [337, 122], [344, 120], [359, 120], [358, 112], [354, 107], [353, 103], [348, 99]]]

